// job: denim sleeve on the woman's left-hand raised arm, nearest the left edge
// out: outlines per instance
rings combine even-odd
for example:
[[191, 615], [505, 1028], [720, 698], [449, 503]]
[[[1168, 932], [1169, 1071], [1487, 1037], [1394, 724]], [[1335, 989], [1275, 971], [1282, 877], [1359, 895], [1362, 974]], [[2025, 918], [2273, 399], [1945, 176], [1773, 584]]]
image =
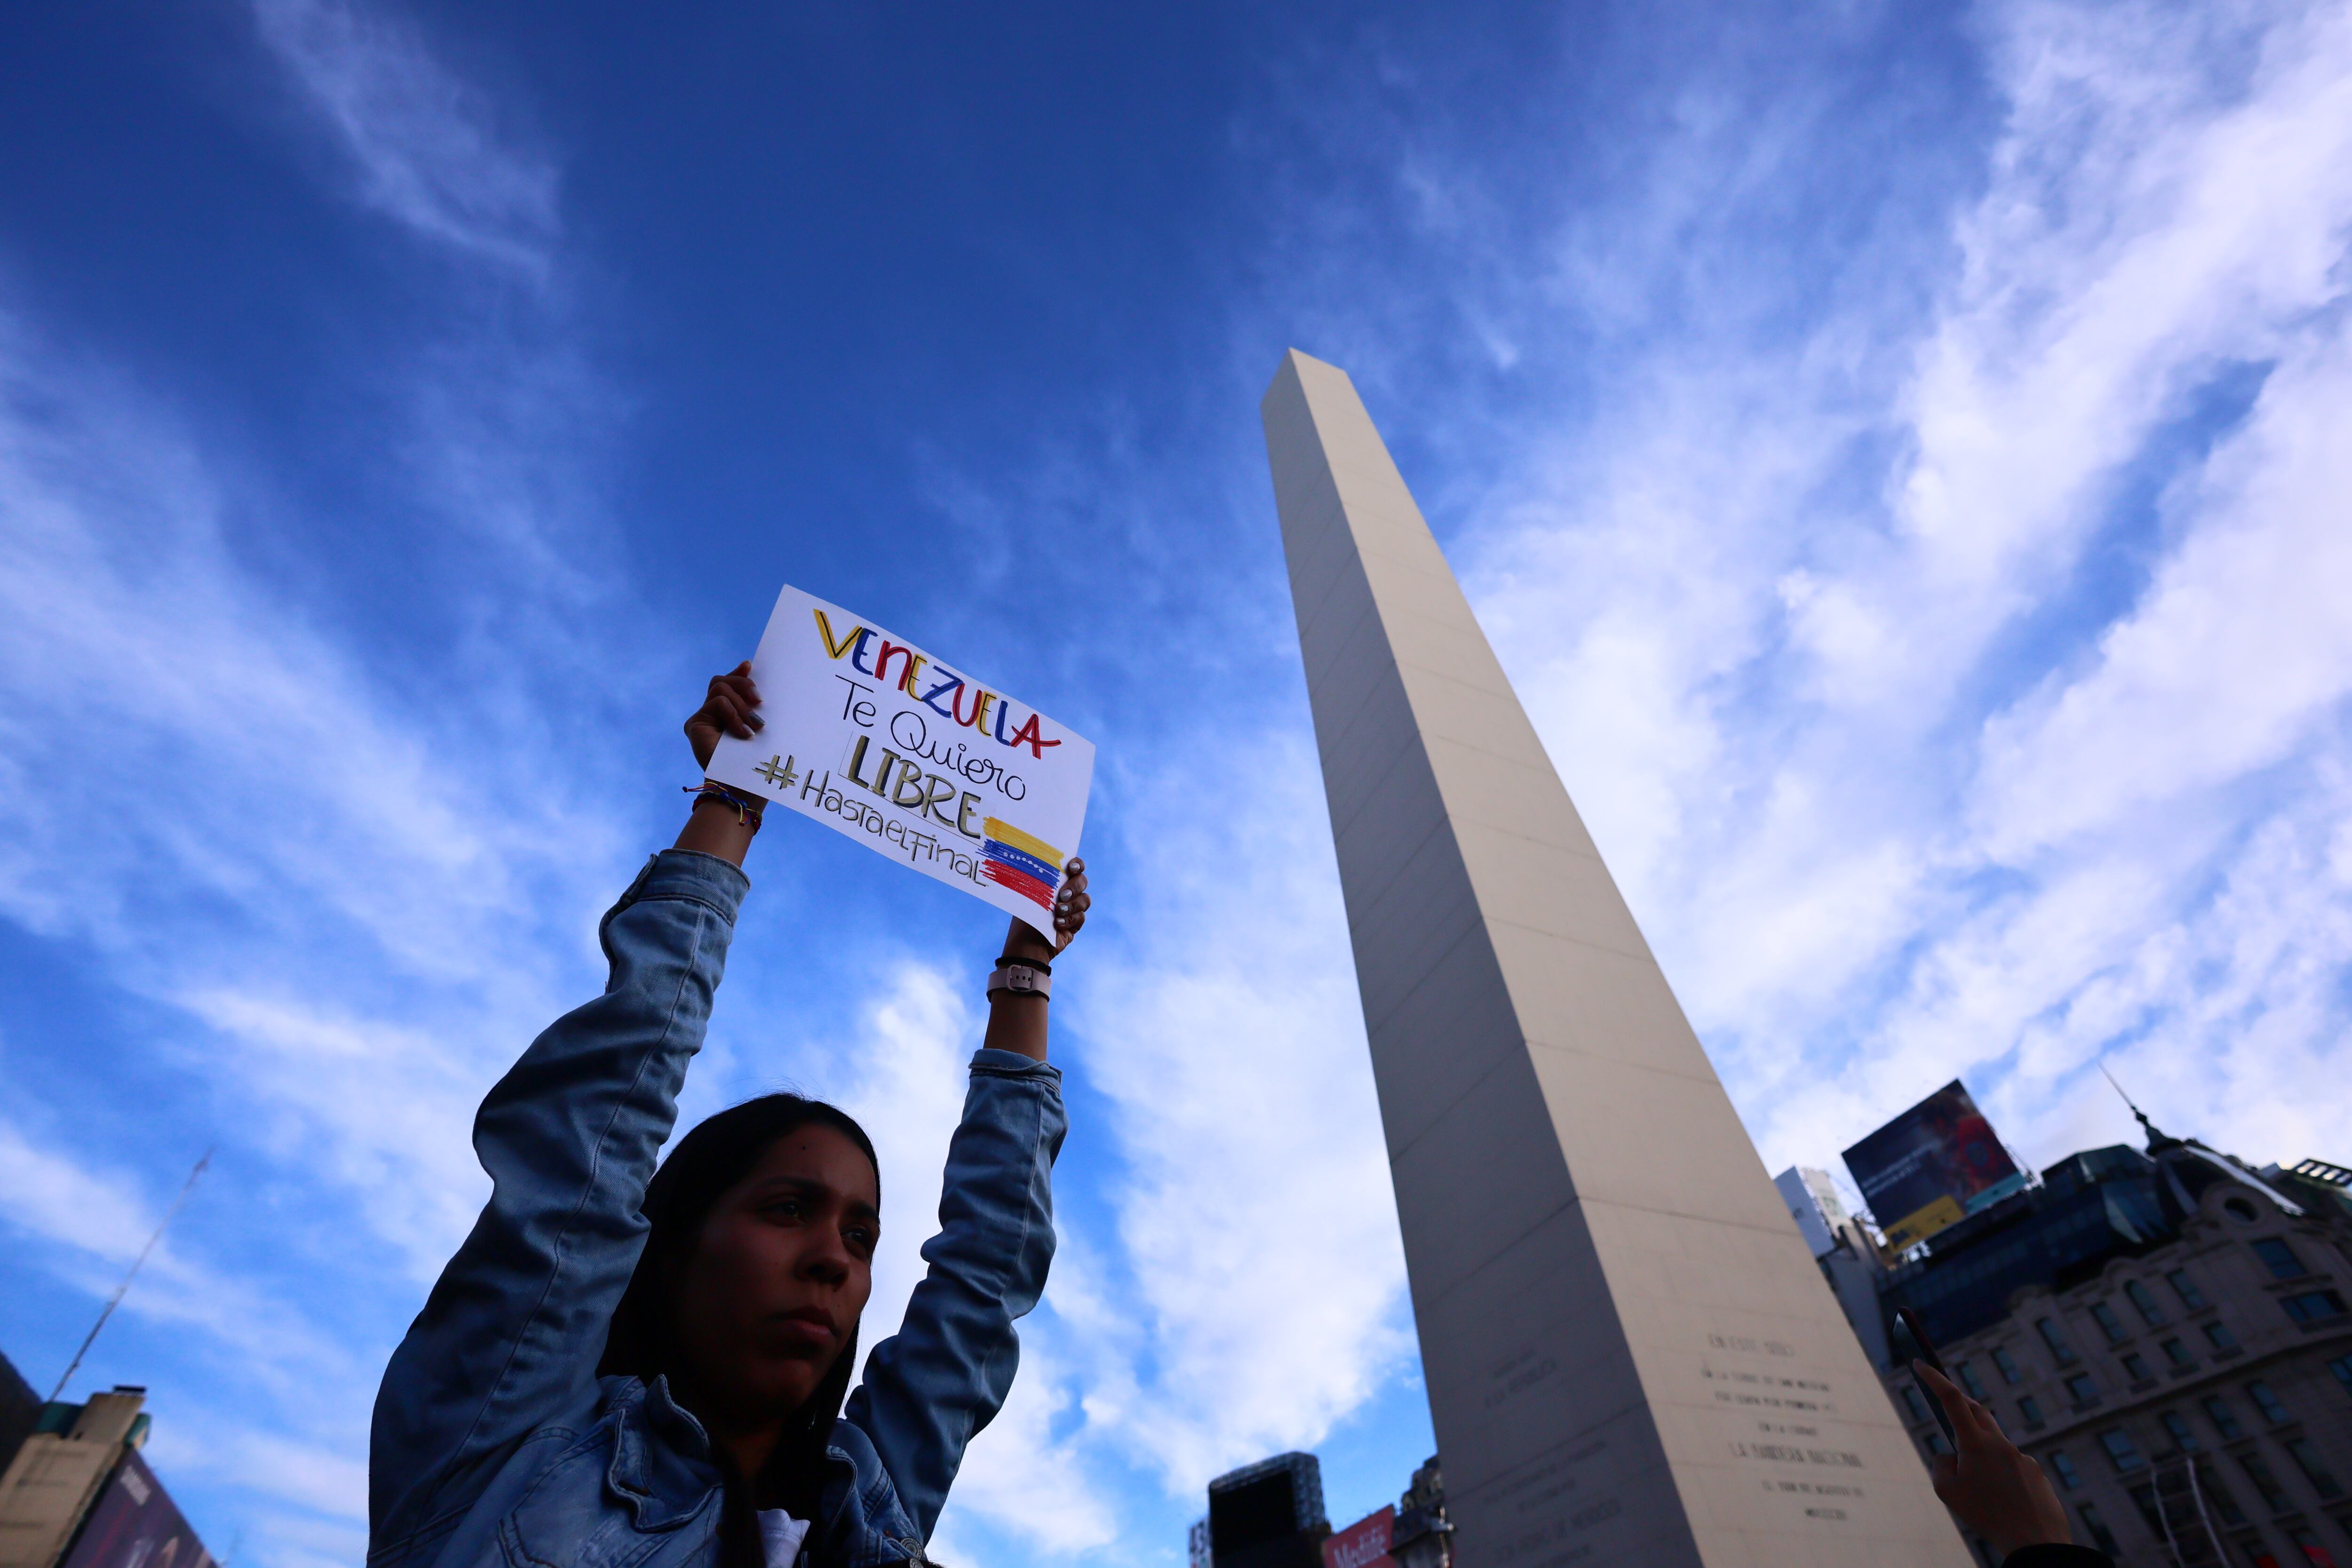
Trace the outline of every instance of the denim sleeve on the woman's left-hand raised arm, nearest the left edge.
[[644, 1248], [644, 1185], [748, 889], [713, 856], [654, 856], [597, 931], [604, 994], [548, 1025], [482, 1100], [489, 1206], [376, 1394], [372, 1549], [468, 1507], [534, 1429], [593, 1408], [604, 1331]]

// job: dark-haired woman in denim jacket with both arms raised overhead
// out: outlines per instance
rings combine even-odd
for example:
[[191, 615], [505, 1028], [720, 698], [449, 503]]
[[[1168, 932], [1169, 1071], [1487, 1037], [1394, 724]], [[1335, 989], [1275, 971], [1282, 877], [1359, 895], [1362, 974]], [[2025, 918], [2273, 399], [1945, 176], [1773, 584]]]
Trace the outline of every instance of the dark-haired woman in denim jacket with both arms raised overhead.
[[[713, 679], [687, 719], [696, 762], [722, 733], [750, 738], [757, 705], [750, 665]], [[764, 1095], [654, 1168], [757, 830], [757, 799], [706, 785], [677, 846], [604, 914], [604, 994], [557, 1018], [482, 1103], [489, 1206], [376, 1396], [372, 1568], [927, 1561], [1054, 1255], [1065, 1117], [1047, 987], [1087, 924], [1084, 865], [1068, 865], [1051, 940], [1011, 924], [929, 1272], [849, 1394], [882, 1227], [858, 1124]]]

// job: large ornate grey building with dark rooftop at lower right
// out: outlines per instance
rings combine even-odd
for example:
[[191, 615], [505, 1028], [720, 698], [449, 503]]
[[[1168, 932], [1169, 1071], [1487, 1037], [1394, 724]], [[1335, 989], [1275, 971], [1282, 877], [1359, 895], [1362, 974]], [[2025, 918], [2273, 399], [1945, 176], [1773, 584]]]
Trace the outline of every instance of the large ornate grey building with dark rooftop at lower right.
[[2079, 1542], [2126, 1568], [2352, 1566], [2352, 1171], [2253, 1168], [2140, 1121], [2145, 1152], [2072, 1154], [1900, 1258], [1816, 1213], [1823, 1276], [1924, 1460], [1945, 1439], [1893, 1366], [1898, 1307], [2051, 1476]]

